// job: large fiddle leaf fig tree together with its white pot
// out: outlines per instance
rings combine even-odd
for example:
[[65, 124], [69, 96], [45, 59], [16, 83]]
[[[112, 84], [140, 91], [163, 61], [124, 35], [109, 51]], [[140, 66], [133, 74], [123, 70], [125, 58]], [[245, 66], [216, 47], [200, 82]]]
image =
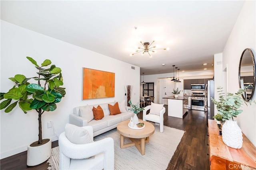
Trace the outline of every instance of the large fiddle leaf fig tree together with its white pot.
[[[34, 59], [26, 57], [35, 65], [38, 76], [26, 78], [22, 74], [16, 74], [9, 78], [14, 82], [14, 86], [6, 93], [0, 93], [0, 109], [5, 109], [9, 113], [16, 107], [20, 107], [24, 113], [34, 109], [38, 113], [38, 141], [28, 146], [27, 165], [35, 166], [46, 161], [51, 155], [51, 139], [42, 139], [42, 114], [44, 111], [54, 111], [57, 108], [56, 103], [60, 102], [66, 94], [63, 85], [61, 69], [56, 67], [48, 59], [39, 66]], [[50, 68], [44, 68], [45, 66]], [[35, 83], [29, 83], [28, 80], [34, 79]], [[14, 101], [14, 102], [12, 102]]]

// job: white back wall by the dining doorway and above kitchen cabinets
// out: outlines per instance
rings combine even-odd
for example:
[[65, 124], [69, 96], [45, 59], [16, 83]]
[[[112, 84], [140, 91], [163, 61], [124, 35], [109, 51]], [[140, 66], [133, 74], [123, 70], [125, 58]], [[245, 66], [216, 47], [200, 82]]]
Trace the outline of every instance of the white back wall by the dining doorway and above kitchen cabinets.
[[[185, 80], [185, 79], [196, 79], [196, 78], [198, 79], [212, 78], [213, 75], [214, 75], [214, 70], [180, 72], [179, 79]], [[154, 97], [157, 99], [157, 101], [155, 101], [157, 103], [161, 103], [161, 104], [164, 103], [164, 100], [162, 98], [164, 97], [164, 81], [168, 80], [166, 77], [173, 77], [173, 73], [144, 75], [144, 82], [154, 82]], [[140, 76], [140, 82], [142, 81], [143, 81], [143, 76]], [[141, 85], [140, 95], [142, 95], [142, 88], [143, 86]]]

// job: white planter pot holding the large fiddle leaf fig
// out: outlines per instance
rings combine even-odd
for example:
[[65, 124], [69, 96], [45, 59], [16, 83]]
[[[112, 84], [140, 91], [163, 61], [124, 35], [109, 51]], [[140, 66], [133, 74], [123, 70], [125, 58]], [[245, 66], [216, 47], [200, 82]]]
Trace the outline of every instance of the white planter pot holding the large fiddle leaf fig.
[[36, 166], [48, 158], [50, 158], [52, 154], [52, 140], [48, 141], [44, 145], [40, 145], [38, 147], [30, 147], [28, 145], [28, 154], [27, 154], [27, 165], [28, 166]]

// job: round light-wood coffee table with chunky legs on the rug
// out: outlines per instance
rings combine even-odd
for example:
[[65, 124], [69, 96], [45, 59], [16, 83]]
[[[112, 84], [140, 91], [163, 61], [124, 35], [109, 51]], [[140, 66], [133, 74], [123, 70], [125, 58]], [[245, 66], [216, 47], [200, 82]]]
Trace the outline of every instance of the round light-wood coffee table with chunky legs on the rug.
[[[149, 122], [143, 122], [145, 127], [143, 129], [131, 129], [128, 127], [130, 120], [118, 123], [116, 129], [120, 133], [120, 148], [127, 148], [135, 146], [142, 155], [145, 154], [145, 143], [149, 142], [149, 136], [155, 132], [155, 127]], [[124, 143], [124, 137], [128, 137], [132, 142]], [[140, 139], [140, 140], [138, 140]]]

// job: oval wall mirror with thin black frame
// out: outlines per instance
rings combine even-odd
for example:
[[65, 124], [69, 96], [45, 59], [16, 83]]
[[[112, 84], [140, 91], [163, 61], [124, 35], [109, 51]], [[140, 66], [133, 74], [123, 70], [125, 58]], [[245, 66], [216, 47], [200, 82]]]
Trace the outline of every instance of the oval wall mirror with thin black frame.
[[242, 94], [245, 101], [249, 101], [255, 90], [255, 58], [251, 49], [244, 49], [242, 52], [239, 70], [239, 87], [246, 90]]

